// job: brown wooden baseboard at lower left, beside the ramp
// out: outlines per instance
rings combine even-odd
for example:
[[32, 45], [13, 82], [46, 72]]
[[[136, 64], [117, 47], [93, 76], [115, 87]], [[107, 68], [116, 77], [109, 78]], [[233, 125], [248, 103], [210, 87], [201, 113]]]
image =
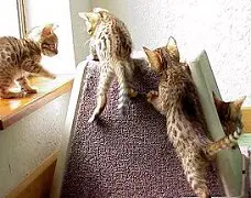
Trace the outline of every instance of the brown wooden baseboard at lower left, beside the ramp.
[[54, 151], [7, 198], [48, 198], [58, 151]]

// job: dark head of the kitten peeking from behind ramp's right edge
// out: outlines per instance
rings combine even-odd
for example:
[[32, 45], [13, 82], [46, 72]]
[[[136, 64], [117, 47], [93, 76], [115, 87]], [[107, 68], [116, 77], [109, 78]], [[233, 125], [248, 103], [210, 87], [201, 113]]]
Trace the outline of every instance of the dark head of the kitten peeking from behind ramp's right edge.
[[245, 97], [238, 100], [225, 102], [214, 96], [216, 109], [226, 134], [232, 134], [237, 128], [242, 129], [241, 106]]

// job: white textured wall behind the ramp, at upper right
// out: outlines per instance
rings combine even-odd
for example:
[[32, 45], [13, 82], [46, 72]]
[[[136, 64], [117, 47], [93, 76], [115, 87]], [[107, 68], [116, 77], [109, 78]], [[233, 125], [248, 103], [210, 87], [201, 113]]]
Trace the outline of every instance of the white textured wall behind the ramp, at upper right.
[[170, 35], [187, 61], [205, 48], [223, 99], [251, 96], [249, 0], [92, 0], [92, 6], [123, 20], [137, 50], [163, 46]]

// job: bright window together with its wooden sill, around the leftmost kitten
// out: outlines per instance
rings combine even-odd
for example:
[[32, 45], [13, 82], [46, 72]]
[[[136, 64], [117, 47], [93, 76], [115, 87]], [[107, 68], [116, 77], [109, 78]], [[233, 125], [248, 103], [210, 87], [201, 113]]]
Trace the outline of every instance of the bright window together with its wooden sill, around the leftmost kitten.
[[[31, 85], [39, 89], [37, 94], [24, 98], [0, 99], [0, 130], [3, 130], [70, 90], [75, 57], [68, 0], [35, 2], [32, 0], [6, 0], [3, 2], [2, 0], [0, 1], [0, 36], [12, 35], [15, 37], [23, 37], [34, 26], [46, 23], [59, 25], [56, 31], [58, 54], [42, 58], [42, 65], [57, 74], [57, 78], [54, 80], [31, 78]], [[15, 91], [15, 87], [12, 89]]]

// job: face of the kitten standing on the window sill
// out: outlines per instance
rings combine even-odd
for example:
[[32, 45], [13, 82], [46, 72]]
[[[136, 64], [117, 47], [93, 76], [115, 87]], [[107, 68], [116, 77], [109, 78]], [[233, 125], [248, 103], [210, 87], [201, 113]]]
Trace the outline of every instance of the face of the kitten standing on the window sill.
[[41, 33], [41, 50], [45, 56], [55, 56], [57, 51], [58, 38], [54, 33], [53, 25], [47, 25]]

